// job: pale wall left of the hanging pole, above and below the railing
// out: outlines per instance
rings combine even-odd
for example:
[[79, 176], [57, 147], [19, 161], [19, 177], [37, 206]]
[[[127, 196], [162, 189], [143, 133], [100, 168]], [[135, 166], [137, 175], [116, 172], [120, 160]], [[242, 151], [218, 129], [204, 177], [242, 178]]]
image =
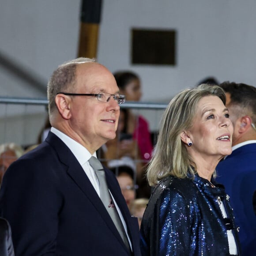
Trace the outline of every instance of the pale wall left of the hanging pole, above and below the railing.
[[[0, 96], [41, 98], [57, 66], [76, 57], [80, 0], [0, 0], [0, 52], [45, 81], [45, 94], [0, 66]], [[0, 143], [37, 142], [41, 106], [0, 104]]]

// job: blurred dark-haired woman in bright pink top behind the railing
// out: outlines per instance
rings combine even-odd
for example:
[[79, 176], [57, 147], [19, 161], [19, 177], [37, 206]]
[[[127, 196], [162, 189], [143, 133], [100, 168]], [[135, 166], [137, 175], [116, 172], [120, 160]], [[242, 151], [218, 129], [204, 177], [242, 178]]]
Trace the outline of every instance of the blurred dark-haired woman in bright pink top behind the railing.
[[[126, 101], [138, 102], [142, 96], [140, 79], [137, 74], [130, 71], [119, 71], [114, 73], [120, 94], [126, 96]], [[146, 164], [151, 159], [153, 145], [151, 141], [151, 133], [147, 120], [142, 115], [136, 115], [131, 109], [123, 109], [124, 111], [124, 127], [122, 129], [123, 136], [130, 136], [136, 142], [136, 154], [139, 156], [141, 167], [137, 168], [137, 182], [139, 189], [138, 197], [150, 197], [151, 189], [145, 178]], [[120, 142], [119, 148], [122, 151], [135, 152], [132, 148], [132, 140], [124, 139]], [[137, 166], [139, 163], [137, 161]]]

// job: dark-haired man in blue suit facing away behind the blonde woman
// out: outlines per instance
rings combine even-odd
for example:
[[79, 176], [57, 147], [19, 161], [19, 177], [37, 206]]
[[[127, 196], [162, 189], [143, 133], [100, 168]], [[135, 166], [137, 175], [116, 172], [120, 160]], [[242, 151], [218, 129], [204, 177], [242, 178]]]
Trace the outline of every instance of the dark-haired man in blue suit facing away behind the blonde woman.
[[225, 82], [226, 106], [233, 123], [232, 154], [216, 168], [233, 207], [243, 255], [255, 255], [256, 218], [252, 197], [256, 189], [256, 88]]

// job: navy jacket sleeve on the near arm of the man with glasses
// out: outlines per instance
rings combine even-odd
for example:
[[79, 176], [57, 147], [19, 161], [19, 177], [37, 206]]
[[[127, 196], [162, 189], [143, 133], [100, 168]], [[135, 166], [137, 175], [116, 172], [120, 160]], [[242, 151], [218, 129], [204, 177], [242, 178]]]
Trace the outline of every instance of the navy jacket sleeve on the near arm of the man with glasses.
[[55, 255], [62, 199], [56, 178], [43, 166], [22, 159], [4, 175], [0, 211], [11, 225], [16, 256]]

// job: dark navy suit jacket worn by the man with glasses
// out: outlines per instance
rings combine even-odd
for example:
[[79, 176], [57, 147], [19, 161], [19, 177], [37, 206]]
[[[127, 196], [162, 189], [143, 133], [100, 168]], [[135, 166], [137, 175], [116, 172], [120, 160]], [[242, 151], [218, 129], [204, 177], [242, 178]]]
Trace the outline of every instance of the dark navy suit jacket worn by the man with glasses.
[[[139, 256], [138, 220], [129, 214], [116, 177], [108, 169], [105, 175]], [[10, 222], [16, 256], [129, 255], [79, 162], [52, 132], [5, 173], [0, 212]]]

